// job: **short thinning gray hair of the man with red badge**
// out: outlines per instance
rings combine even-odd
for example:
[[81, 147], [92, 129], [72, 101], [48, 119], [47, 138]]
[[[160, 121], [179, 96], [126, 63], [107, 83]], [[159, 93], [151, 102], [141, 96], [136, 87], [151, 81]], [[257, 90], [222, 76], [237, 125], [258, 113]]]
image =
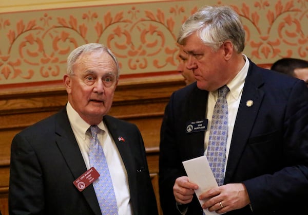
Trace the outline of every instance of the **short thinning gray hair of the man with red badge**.
[[79, 46], [79, 47], [75, 48], [69, 54], [69, 56], [67, 58], [66, 73], [68, 75], [74, 75], [73, 65], [77, 61], [79, 56], [82, 53], [94, 52], [94, 51], [107, 52], [111, 56], [111, 58], [113, 59], [115, 65], [117, 65], [117, 79], [118, 79], [119, 76], [120, 76], [120, 66], [119, 66], [117, 58], [115, 58], [115, 56], [113, 55], [113, 53], [111, 52], [111, 50], [109, 48], [107, 48], [106, 46], [104, 46], [102, 44], [99, 44], [99, 43], [88, 43], [88, 44], [85, 44], [85, 45], [82, 45], [82, 46]]

